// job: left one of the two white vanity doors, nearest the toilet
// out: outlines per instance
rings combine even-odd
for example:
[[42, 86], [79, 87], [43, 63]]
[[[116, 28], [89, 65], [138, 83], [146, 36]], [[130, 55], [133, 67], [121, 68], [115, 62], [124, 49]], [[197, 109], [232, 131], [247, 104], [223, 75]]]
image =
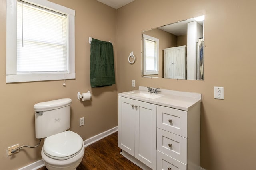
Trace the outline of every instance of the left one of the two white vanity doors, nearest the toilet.
[[135, 141], [135, 110], [134, 100], [118, 97], [118, 147], [132, 156]]

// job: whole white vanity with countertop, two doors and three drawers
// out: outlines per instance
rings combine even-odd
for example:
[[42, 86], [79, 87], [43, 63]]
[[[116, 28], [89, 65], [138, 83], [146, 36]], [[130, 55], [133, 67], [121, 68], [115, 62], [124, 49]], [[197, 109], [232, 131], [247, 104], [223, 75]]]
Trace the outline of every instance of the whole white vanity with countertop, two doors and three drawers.
[[200, 170], [201, 94], [118, 94], [118, 147], [144, 170]]

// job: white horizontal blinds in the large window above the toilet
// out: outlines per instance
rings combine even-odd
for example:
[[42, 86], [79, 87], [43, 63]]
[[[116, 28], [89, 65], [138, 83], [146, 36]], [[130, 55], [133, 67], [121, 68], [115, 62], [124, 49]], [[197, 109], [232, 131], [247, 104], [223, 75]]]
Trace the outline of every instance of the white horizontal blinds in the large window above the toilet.
[[17, 73], [69, 72], [67, 16], [17, 2]]

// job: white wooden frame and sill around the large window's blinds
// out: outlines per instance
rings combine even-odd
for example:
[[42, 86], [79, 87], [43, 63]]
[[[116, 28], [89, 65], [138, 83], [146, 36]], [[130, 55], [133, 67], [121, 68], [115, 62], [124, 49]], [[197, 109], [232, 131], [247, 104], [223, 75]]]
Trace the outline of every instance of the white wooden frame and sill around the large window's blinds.
[[6, 83], [76, 78], [75, 74], [75, 10], [47, 0], [22, 0], [68, 18], [68, 73], [17, 74], [17, 0], [6, 0]]

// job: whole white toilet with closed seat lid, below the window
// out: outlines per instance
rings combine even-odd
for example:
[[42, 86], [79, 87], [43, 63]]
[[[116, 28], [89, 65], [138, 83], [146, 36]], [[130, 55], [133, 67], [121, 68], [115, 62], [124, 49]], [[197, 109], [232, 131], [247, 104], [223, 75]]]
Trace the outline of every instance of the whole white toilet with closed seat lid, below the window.
[[36, 138], [45, 138], [41, 155], [48, 170], [75, 170], [84, 156], [83, 139], [66, 131], [71, 102], [65, 98], [34, 105]]

